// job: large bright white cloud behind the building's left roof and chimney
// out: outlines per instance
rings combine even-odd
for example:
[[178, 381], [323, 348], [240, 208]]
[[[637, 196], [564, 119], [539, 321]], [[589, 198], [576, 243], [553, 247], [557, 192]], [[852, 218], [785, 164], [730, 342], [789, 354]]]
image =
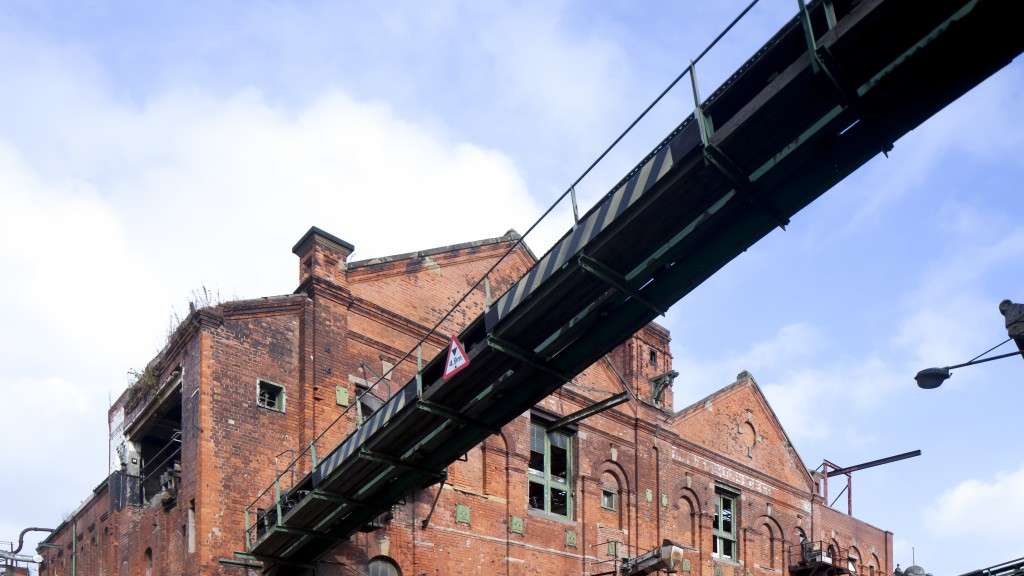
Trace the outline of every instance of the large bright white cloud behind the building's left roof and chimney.
[[0, 449], [22, 462], [0, 493], [57, 496], [5, 503], [24, 525], [52, 523], [106, 474], [108, 396], [195, 288], [290, 292], [290, 248], [311, 224], [368, 257], [499, 236], [539, 213], [502, 152], [341, 89], [297, 109], [255, 89], [130, 104], [59, 63], [34, 83], [67, 97], [53, 117], [25, 110], [45, 133], [0, 131], [0, 388], [17, 407], [5, 428], [26, 433]]

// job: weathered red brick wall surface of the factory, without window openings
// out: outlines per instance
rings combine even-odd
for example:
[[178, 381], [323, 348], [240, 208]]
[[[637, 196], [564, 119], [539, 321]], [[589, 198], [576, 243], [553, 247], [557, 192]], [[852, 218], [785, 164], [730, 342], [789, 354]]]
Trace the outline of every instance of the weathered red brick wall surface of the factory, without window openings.
[[[347, 249], [312, 242], [311, 252], [299, 254], [301, 262], [310, 262], [300, 265], [299, 293], [206, 311], [186, 342], [168, 355], [174, 362], [162, 362], [181, 365], [184, 373], [182, 424], [188, 431], [178, 504], [167, 511], [126, 508], [102, 519], [109, 505], [97, 497], [77, 522], [96, 524], [94, 533], [106, 538], [79, 552], [82, 562], [91, 563], [80, 566], [94, 570], [79, 573], [143, 574], [146, 547], [153, 550], [154, 574], [242, 573], [219, 560], [245, 547], [245, 507], [296, 455], [301, 458], [294, 478], [301, 478], [310, 461], [303, 451], [331, 422], [338, 423], [316, 443], [321, 455], [354, 427], [355, 410], [337, 404], [336, 389], [347, 390], [353, 406], [356, 383], [373, 383], [395, 364], [391, 387], [404, 384], [415, 373], [416, 358], [399, 359], [509, 245], [506, 240], [349, 265]], [[531, 261], [525, 250], [514, 253], [493, 276], [493, 296]], [[484, 303], [477, 290], [464, 312], [428, 338], [425, 359]], [[608, 363], [596, 363], [540, 403], [540, 410], [564, 415], [624, 386], [639, 397], [580, 422], [570, 519], [528, 509], [527, 413], [452, 464], [426, 529], [421, 523], [437, 486], [397, 505], [387, 529], [357, 533], [326, 560], [356, 573], [371, 559], [386, 556], [407, 576], [577, 575], [611, 569], [608, 541], [636, 554], [669, 538], [686, 547], [691, 574], [770, 575], [786, 571], [785, 549], [800, 528], [814, 538], [827, 535], [843, 547], [856, 546], [865, 566], [874, 553], [879, 566], [891, 572], [892, 535], [815, 500], [803, 462], [752, 378], [740, 377], [707, 402], [674, 414], [664, 408], [672, 406], [671, 390], [662, 406], [649, 402], [649, 379], [671, 368], [669, 333], [651, 325], [613, 351]], [[285, 387], [284, 413], [256, 405], [258, 379]], [[386, 384], [376, 388], [380, 396], [386, 396]], [[284, 476], [283, 488], [291, 479]], [[616, 510], [600, 505], [605, 482], [617, 485]], [[739, 493], [736, 562], [711, 556], [717, 486]], [[189, 554], [181, 527], [193, 498], [197, 550]], [[264, 497], [266, 505], [270, 501]], [[469, 523], [457, 522], [457, 505], [469, 507]], [[522, 520], [522, 534], [512, 532], [513, 517]], [[70, 538], [68, 526], [52, 537], [62, 556], [45, 552], [44, 574], [67, 574]], [[324, 564], [317, 573], [352, 572]]]

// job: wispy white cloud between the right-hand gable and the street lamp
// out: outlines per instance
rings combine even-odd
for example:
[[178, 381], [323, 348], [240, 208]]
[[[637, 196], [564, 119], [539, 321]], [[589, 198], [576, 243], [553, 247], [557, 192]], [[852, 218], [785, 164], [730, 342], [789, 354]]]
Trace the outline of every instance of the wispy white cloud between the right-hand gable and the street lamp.
[[[749, 370], [796, 440], [824, 440], [839, 433], [849, 443], [871, 442], [867, 430], [845, 426], [855, 426], [858, 414], [898, 390], [912, 389], [911, 376], [918, 370], [967, 361], [1006, 337], [998, 298], [993, 299], [981, 281], [1021, 257], [1020, 228], [937, 254], [936, 265], [900, 296], [903, 314], [880, 326], [879, 340], [860, 354], [846, 352], [841, 334], [811, 323], [783, 325], [746, 349], [718, 358], [677, 351], [677, 404], [693, 402]], [[970, 388], [982, 374], [956, 371], [945, 387]], [[819, 409], [841, 410], [848, 418], [822, 418]]]

